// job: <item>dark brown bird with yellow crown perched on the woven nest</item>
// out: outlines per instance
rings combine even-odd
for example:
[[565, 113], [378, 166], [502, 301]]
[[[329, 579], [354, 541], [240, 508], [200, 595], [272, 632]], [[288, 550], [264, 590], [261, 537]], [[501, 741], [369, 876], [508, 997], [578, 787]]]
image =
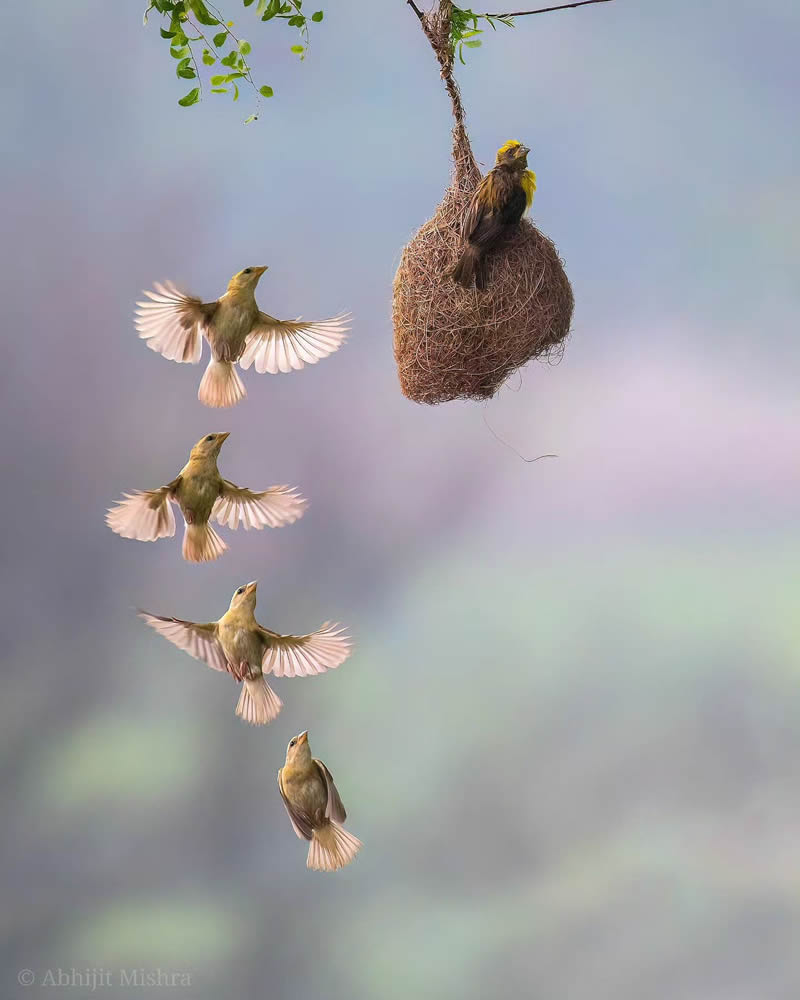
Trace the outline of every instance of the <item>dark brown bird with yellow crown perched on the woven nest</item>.
[[486, 287], [486, 253], [510, 226], [516, 226], [533, 203], [536, 174], [528, 170], [530, 149], [514, 139], [497, 150], [494, 167], [472, 196], [461, 234], [466, 246], [453, 280], [470, 288]]

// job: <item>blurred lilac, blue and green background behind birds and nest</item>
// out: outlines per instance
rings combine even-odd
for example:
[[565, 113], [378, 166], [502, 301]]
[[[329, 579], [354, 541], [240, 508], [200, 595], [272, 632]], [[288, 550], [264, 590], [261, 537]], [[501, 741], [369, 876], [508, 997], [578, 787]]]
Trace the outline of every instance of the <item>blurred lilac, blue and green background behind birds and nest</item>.
[[[244, 127], [246, 89], [177, 106], [143, 7], [3, 21], [0, 995], [89, 967], [198, 1000], [796, 1000], [797, 4], [619, 0], [470, 51], [476, 155], [533, 148], [576, 312], [559, 366], [435, 408], [389, 320], [449, 174], [412, 12], [330, 0], [301, 63], [227, 0], [275, 88]], [[252, 264], [262, 308], [352, 309], [351, 340], [208, 410], [133, 304]], [[199, 567], [105, 527], [211, 430], [306, 517]], [[357, 643], [276, 681], [266, 729], [134, 613], [214, 619], [253, 578], [265, 625]], [[335, 876], [275, 786], [306, 728], [365, 843]]]

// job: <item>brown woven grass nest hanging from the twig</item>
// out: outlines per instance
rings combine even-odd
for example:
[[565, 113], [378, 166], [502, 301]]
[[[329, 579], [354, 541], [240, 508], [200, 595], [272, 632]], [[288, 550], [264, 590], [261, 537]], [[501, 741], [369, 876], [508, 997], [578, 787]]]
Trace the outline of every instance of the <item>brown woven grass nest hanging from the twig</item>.
[[451, 277], [481, 172], [452, 76], [449, 10], [443, 3], [422, 25], [453, 104], [453, 176], [436, 214], [403, 250], [392, 301], [400, 386], [418, 403], [487, 399], [528, 361], [560, 357], [574, 304], [555, 246], [527, 219], [489, 253], [485, 290]]

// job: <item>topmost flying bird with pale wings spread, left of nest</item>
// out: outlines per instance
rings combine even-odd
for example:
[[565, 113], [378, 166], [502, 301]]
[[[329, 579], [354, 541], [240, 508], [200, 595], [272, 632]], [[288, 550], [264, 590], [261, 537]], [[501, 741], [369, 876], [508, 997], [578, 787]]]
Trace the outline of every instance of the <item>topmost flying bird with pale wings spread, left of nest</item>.
[[313, 365], [344, 343], [349, 313], [319, 322], [275, 319], [261, 312], [256, 285], [266, 267], [246, 267], [228, 282], [216, 302], [184, 295], [171, 282], [155, 283], [137, 302], [135, 326], [147, 346], [170, 361], [197, 364], [203, 337], [211, 348], [197, 398], [206, 406], [234, 406], [247, 392], [234, 365], [260, 373], [289, 372]]

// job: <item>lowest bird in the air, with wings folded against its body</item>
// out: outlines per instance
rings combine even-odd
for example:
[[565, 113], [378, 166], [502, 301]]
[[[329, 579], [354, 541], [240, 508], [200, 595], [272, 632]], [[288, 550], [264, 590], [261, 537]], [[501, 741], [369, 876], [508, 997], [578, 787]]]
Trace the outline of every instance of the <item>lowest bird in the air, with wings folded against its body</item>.
[[361, 841], [341, 825], [347, 813], [331, 772], [311, 756], [308, 732], [289, 740], [286, 763], [278, 771], [278, 788], [294, 832], [301, 840], [311, 841], [306, 866], [332, 872], [349, 864]]

